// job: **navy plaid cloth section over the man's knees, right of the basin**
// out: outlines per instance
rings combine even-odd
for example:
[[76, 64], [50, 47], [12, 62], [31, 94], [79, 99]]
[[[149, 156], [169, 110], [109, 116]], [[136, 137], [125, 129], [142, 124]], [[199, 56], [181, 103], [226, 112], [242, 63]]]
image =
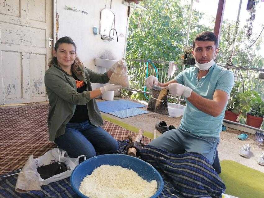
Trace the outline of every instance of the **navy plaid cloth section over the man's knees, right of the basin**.
[[161, 173], [163, 197], [221, 197], [225, 184], [212, 165], [201, 154], [186, 153], [175, 155], [153, 146], [140, 151], [141, 159]]

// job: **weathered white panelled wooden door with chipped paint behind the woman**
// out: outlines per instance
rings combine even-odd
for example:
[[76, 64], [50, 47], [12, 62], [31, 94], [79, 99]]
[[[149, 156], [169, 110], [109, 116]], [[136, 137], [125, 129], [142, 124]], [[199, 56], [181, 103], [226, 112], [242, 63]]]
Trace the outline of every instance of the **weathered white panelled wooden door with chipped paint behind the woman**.
[[0, 0], [0, 105], [47, 100], [52, 6], [52, 0]]

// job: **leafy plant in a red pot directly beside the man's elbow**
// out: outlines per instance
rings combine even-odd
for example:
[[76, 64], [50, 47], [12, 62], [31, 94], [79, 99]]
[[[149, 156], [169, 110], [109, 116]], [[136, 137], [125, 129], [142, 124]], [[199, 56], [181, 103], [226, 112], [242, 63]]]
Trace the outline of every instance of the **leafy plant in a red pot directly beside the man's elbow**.
[[241, 114], [241, 106], [239, 105], [239, 92], [238, 92], [238, 88], [240, 87], [239, 82], [235, 82], [234, 83], [234, 87], [232, 88], [231, 92], [230, 92], [230, 98], [228, 100], [227, 106], [226, 106], [226, 110], [225, 110], [225, 118], [224, 119], [228, 119], [230, 121], [236, 122], [239, 115]]

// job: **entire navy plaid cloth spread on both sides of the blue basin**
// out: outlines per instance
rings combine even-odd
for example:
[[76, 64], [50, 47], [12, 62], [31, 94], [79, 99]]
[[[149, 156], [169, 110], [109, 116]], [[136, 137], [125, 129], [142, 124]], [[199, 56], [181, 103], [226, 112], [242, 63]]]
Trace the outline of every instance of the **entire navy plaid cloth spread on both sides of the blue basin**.
[[[128, 143], [128, 140], [119, 141], [118, 153], [127, 154], [125, 148]], [[160, 198], [221, 197], [221, 193], [225, 191], [225, 184], [203, 155], [198, 153], [174, 155], [148, 145], [140, 154], [141, 159], [155, 167], [164, 179]], [[8, 174], [18, 172], [16, 170]], [[17, 177], [18, 175], [0, 178], [0, 198], [78, 197], [71, 188], [70, 178], [44, 185], [41, 187], [42, 191], [18, 193], [15, 191]]]

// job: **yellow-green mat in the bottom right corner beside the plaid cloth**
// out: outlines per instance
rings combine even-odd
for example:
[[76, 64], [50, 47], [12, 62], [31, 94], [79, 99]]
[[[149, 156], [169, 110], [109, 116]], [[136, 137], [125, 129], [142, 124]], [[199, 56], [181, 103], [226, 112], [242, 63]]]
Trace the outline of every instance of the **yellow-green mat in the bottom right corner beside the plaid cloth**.
[[264, 173], [232, 160], [222, 160], [220, 164], [219, 176], [225, 183], [226, 194], [239, 198], [264, 197]]

